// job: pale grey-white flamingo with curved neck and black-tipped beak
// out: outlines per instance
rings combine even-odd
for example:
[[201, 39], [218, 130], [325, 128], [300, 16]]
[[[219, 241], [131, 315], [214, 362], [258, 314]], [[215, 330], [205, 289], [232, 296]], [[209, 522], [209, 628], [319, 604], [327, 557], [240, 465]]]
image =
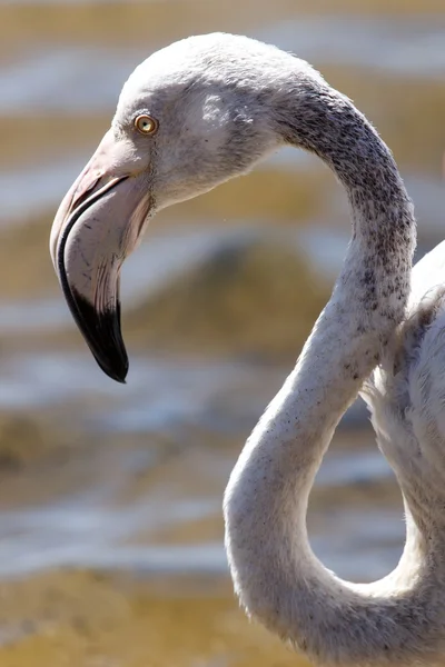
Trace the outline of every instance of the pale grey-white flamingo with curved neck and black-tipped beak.
[[[352, 238], [332, 297], [231, 472], [225, 545], [246, 613], [319, 666], [433, 666], [445, 651], [445, 245], [413, 269], [416, 223], [395, 160], [307, 62], [241, 36], [190, 37], [125, 83], [111, 127], [66, 195], [50, 251], [97, 362], [123, 382], [119, 275], [148, 220], [290, 145], [345, 188]], [[298, 289], [298, 285], [295, 286]], [[314, 477], [362, 392], [400, 486], [394, 571], [353, 584], [314, 555]]]

